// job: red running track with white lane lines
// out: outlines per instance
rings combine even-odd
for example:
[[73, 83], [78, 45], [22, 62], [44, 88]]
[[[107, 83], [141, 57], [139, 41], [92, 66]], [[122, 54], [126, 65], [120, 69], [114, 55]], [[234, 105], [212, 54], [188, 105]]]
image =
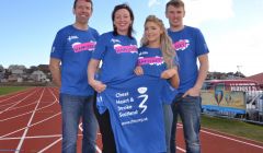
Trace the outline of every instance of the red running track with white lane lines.
[[[61, 116], [58, 90], [34, 87], [0, 96], [0, 152], [61, 152]], [[78, 152], [81, 152], [81, 123]], [[182, 126], [178, 126], [178, 152], [185, 152]], [[263, 143], [219, 133], [201, 131], [203, 153], [262, 153]], [[98, 153], [101, 153], [98, 133]]]

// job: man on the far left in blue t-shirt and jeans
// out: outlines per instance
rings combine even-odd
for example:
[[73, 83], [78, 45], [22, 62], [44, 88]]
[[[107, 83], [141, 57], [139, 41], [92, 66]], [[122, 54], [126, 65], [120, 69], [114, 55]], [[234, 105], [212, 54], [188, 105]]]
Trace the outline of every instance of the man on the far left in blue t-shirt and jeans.
[[[99, 33], [88, 25], [91, 0], [75, 0], [76, 22], [61, 28], [54, 40], [49, 68], [60, 89], [62, 152], [77, 152], [79, 120], [82, 117], [82, 152], [95, 153], [98, 123], [93, 113], [93, 89], [88, 84], [87, 67]], [[60, 66], [61, 63], [61, 66]]]

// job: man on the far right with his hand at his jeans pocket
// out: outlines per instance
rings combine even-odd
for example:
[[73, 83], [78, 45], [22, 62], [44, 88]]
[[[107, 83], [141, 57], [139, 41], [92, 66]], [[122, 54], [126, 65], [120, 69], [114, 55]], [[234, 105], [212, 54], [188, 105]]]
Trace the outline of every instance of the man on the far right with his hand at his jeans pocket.
[[[175, 132], [178, 114], [183, 123], [187, 153], [201, 152], [201, 87], [208, 71], [208, 48], [198, 28], [183, 25], [185, 15], [181, 0], [170, 0], [165, 7], [165, 15], [170, 23], [169, 36], [173, 40], [179, 57], [179, 94], [172, 104], [173, 127], [171, 136], [171, 153], [175, 152]], [[197, 68], [197, 60], [199, 68]]]

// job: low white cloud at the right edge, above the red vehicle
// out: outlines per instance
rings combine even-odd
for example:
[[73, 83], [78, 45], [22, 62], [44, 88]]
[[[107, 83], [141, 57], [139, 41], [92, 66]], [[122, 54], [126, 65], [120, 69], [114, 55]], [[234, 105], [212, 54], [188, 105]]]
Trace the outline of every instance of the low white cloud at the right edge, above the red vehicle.
[[[210, 44], [211, 71], [236, 72], [237, 66], [245, 75], [263, 72], [263, 24], [225, 33]], [[209, 39], [207, 39], [209, 42]]]

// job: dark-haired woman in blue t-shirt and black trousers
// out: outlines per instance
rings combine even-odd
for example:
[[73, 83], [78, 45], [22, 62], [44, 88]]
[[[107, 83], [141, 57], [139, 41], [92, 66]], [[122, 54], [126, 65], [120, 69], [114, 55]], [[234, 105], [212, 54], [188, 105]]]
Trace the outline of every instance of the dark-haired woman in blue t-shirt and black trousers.
[[[108, 82], [125, 79], [134, 74], [137, 63], [137, 42], [132, 36], [134, 13], [127, 4], [116, 5], [112, 12], [113, 31], [100, 36], [95, 50], [88, 66], [89, 84], [101, 93]], [[102, 61], [98, 78], [95, 72]], [[114, 136], [111, 128], [110, 114], [105, 110], [96, 118], [102, 133], [103, 153], [115, 153]]]

